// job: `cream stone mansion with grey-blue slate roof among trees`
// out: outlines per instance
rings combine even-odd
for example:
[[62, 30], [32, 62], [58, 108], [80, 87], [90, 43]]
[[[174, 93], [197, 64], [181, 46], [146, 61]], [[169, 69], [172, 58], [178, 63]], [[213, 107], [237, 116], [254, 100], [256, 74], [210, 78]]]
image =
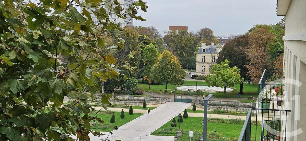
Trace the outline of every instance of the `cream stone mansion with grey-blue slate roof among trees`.
[[218, 58], [218, 53], [222, 50], [222, 45], [206, 45], [202, 43], [196, 53], [196, 75], [210, 74], [211, 67], [214, 66]]

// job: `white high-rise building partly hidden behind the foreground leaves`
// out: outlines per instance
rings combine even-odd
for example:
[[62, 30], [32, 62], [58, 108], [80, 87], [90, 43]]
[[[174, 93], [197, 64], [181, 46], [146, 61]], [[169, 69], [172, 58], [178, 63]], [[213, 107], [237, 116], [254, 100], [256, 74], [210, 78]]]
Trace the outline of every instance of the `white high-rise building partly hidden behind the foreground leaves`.
[[[124, 8], [124, 10], [121, 11], [121, 14], [123, 14], [123, 13], [125, 13], [126, 9], [129, 9], [129, 6], [132, 5], [133, 0], [118, 0], [118, 2], [120, 2], [121, 7]], [[106, 10], [106, 13], [109, 13], [109, 10], [105, 8], [106, 5], [101, 5], [101, 6], [103, 6], [103, 8]], [[99, 8], [101, 6], [99, 6]], [[83, 10], [83, 8], [81, 7], [80, 11], [82, 11], [82, 10]], [[95, 10], [95, 9], [93, 9], [93, 10]], [[100, 25], [99, 19], [95, 16], [95, 14], [92, 13], [91, 10], [88, 10], [88, 12], [90, 12], [90, 16], [92, 18], [92, 21], [96, 25]], [[129, 16], [129, 14], [127, 14], [127, 13], [126, 13], [126, 19], [118, 18], [118, 16], [116, 14], [110, 14], [110, 20], [115, 24], [120, 23], [120, 27], [125, 27], [126, 25], [132, 25], [133, 24], [133, 19], [131, 19], [131, 16]]]

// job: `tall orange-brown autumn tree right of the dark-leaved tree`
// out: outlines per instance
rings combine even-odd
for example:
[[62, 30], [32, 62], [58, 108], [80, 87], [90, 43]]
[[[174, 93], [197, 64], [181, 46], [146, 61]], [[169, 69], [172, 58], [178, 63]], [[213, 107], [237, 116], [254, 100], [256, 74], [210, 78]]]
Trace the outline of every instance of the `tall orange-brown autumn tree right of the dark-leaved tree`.
[[252, 82], [258, 84], [263, 70], [271, 66], [270, 44], [274, 41], [274, 34], [267, 25], [261, 25], [251, 30], [248, 44], [248, 57], [250, 64], [246, 65]]

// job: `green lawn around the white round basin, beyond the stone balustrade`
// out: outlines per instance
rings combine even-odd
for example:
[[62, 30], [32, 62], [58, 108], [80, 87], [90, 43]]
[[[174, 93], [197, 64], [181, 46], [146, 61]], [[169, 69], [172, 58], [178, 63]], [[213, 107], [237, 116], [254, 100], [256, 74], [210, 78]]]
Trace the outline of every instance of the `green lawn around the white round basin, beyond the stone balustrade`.
[[[196, 85], [196, 81], [184, 81], [183, 85]], [[203, 82], [203, 81], [197, 81], [197, 85], [207, 85], [207, 84], [206, 84], [206, 82]], [[151, 93], [155, 93], [155, 94], [159, 94], [159, 89], [162, 89], [162, 91], [165, 90], [165, 85], [151, 85], [151, 89], [149, 89], [149, 85], [148, 84], [143, 84], [143, 83], [141, 83], [141, 81], [137, 84], [137, 86], [140, 87], [141, 89], [143, 89], [144, 92], [151, 92]], [[171, 85], [171, 84], [168, 84], [167, 87], [168, 87], [168, 89], [173, 89], [173, 85]], [[223, 92], [218, 92], [218, 93], [213, 93], [213, 95], [214, 95], [214, 97], [220, 97], [220, 98], [238, 98], [240, 84], [236, 84], [236, 85], [234, 85], [234, 87], [236, 88], [236, 91], [234, 91], [234, 92], [226, 92], [225, 95], [224, 95]], [[176, 93], [181, 93], [181, 92], [184, 92], [184, 91], [178, 91], [178, 90], [176, 91]], [[241, 94], [241, 98], [248, 98], [250, 96], [257, 96], [258, 85], [245, 83], [243, 85], [243, 92], [244, 92], [244, 94]], [[187, 93], [187, 92], [185, 92], [185, 93]], [[210, 94], [210, 93], [203, 92], [203, 94], [207, 95], [207, 94]]]

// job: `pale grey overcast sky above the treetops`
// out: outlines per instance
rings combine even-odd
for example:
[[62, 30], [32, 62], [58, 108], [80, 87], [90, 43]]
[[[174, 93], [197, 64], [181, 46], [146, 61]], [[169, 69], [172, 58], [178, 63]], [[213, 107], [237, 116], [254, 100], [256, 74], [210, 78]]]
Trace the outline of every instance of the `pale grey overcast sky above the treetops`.
[[215, 35], [243, 34], [255, 24], [276, 24], [277, 0], [144, 0], [147, 21], [136, 26], [155, 26], [160, 32], [168, 26], [188, 26], [197, 31], [208, 27]]

